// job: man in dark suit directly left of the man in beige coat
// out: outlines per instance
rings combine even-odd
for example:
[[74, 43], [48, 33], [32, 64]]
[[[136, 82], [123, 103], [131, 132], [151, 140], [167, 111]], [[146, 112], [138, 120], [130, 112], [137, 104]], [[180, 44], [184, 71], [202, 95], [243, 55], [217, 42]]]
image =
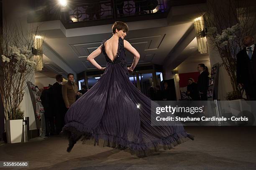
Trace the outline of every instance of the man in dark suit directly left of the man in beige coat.
[[61, 132], [62, 127], [64, 127], [64, 117], [67, 112], [65, 103], [62, 97], [62, 81], [63, 77], [61, 74], [56, 75], [56, 83], [53, 84], [53, 98], [54, 98], [54, 113], [56, 117], [56, 131], [57, 134]]

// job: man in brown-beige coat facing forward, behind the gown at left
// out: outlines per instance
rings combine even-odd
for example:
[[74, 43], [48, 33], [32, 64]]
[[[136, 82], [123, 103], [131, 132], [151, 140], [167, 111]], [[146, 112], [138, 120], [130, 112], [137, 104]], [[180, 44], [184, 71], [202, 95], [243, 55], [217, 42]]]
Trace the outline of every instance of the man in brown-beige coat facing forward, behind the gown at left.
[[67, 83], [62, 86], [62, 96], [68, 109], [76, 101], [77, 91], [78, 87], [74, 82], [74, 74], [69, 73]]

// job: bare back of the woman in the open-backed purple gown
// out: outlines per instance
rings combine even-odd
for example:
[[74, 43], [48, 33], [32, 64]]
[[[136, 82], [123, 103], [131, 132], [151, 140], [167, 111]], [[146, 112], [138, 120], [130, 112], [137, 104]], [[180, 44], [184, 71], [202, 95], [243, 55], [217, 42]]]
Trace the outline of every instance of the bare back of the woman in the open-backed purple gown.
[[118, 53], [118, 39], [110, 38], [104, 45], [106, 54], [113, 61]]

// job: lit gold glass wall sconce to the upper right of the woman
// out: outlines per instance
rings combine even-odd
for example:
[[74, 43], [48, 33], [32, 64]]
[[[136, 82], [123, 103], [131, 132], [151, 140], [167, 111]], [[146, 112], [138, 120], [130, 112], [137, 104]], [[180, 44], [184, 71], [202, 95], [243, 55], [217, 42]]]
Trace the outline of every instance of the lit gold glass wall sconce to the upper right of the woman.
[[198, 51], [201, 54], [207, 53], [207, 43], [206, 43], [207, 30], [205, 28], [205, 24], [202, 16], [194, 20], [194, 26], [195, 26], [195, 32], [197, 37]]

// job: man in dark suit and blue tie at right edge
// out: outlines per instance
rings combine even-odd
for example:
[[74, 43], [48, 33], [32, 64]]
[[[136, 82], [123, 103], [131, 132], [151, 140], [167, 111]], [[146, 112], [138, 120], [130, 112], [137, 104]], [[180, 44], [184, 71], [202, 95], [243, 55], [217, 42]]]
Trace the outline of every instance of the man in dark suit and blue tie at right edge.
[[246, 47], [236, 56], [237, 84], [244, 87], [248, 100], [256, 100], [256, 53], [253, 36], [246, 36], [243, 45]]

